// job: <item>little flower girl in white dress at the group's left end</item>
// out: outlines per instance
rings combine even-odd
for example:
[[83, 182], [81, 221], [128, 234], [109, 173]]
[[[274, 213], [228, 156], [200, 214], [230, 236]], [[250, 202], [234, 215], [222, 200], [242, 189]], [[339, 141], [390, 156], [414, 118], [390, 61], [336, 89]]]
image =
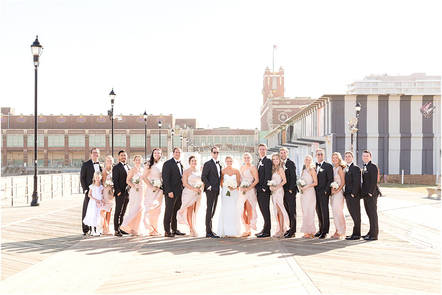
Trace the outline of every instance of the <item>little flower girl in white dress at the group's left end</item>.
[[83, 223], [92, 227], [91, 235], [99, 236], [100, 233], [95, 230], [95, 227], [100, 223], [103, 224], [101, 218], [101, 208], [103, 208], [103, 185], [101, 185], [101, 172], [97, 171], [94, 173], [94, 178], [92, 184], [89, 185], [88, 196], [92, 200], [89, 200], [88, 209], [86, 211], [86, 216], [83, 219]]

